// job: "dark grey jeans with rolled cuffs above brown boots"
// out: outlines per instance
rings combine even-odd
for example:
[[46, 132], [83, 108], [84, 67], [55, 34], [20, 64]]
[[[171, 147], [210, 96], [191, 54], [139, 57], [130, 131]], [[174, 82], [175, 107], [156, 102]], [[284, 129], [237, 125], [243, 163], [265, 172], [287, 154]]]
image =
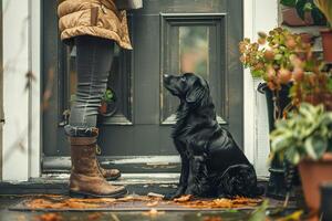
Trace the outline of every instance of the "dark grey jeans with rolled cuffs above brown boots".
[[75, 45], [77, 91], [64, 130], [68, 136], [89, 137], [96, 130], [98, 107], [114, 55], [114, 41], [82, 35], [75, 38]]

